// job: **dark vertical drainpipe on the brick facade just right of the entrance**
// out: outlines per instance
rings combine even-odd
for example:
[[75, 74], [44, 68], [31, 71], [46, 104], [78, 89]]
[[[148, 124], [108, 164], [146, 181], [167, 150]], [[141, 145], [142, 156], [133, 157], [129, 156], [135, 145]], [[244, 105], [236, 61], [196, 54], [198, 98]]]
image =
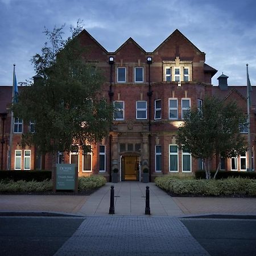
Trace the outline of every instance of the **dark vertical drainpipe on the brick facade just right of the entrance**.
[[148, 64], [148, 143], [149, 143], [149, 156], [148, 156], [148, 162], [149, 162], [149, 181], [151, 182], [151, 97], [152, 97], [152, 90], [151, 90], [151, 84], [150, 84], [150, 65], [152, 64], [152, 57], [147, 57], [147, 64]]

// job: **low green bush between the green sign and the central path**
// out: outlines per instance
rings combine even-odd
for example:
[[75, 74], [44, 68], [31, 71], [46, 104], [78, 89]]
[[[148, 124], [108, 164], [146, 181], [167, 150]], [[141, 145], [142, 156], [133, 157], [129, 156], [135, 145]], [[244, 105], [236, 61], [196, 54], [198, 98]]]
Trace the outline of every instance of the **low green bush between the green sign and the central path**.
[[105, 177], [100, 175], [79, 177], [79, 191], [88, 191], [90, 189], [100, 188], [105, 185], [105, 183]]

